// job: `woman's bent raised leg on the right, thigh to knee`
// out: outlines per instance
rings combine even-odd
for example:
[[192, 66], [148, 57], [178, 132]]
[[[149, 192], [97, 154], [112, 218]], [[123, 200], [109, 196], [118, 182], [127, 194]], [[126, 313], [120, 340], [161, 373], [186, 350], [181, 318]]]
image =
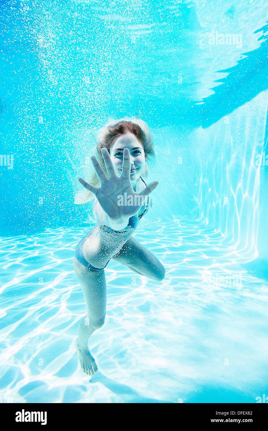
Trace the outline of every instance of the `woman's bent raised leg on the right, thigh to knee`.
[[162, 281], [166, 270], [162, 263], [142, 244], [130, 237], [121, 250], [113, 257], [129, 269], [156, 281]]

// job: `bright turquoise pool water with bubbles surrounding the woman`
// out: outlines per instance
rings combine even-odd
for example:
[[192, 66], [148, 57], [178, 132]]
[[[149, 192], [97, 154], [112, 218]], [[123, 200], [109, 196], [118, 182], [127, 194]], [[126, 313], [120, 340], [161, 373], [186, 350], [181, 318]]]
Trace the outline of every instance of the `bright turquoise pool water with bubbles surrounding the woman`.
[[[0, 400], [267, 397], [268, 162], [256, 160], [268, 155], [268, 6], [10, 6], [1, 2], [1, 154], [14, 164], [0, 166]], [[209, 44], [216, 32], [242, 39]], [[135, 237], [166, 277], [108, 263], [89, 378], [74, 348], [86, 306], [73, 256], [94, 219], [74, 195], [99, 127], [125, 115], [154, 134], [160, 184]]]

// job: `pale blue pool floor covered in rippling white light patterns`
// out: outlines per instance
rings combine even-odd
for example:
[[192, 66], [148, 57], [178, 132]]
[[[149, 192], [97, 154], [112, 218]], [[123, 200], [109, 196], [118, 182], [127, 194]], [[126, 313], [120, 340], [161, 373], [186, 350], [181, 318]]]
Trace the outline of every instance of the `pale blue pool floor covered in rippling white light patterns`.
[[89, 339], [99, 372], [84, 375], [74, 339], [86, 306], [72, 262], [89, 228], [1, 238], [3, 399], [256, 403], [268, 395], [268, 281], [197, 223], [136, 231], [166, 268], [161, 282], [109, 262], [105, 325]]

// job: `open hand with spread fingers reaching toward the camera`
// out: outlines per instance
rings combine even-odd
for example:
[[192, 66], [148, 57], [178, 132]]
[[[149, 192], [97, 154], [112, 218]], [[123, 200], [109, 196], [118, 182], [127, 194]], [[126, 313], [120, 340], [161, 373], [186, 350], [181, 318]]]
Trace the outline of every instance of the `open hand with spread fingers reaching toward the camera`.
[[[78, 181], [83, 185], [83, 187], [95, 195], [103, 211], [105, 211], [111, 220], [114, 222], [120, 222], [122, 220], [129, 219], [132, 215], [137, 214], [144, 203], [145, 196], [151, 194], [159, 182], [152, 181], [144, 188], [144, 190], [140, 193], [136, 193], [130, 181], [131, 162], [129, 149], [125, 148], [123, 151], [123, 164], [120, 177], [117, 176], [114, 170], [114, 165], [107, 148], [102, 148], [101, 151], [110, 179], [106, 177], [105, 172], [96, 157], [91, 156], [91, 161], [101, 186], [94, 187], [83, 180], [83, 178], [78, 178]], [[125, 193], [127, 204], [120, 205], [120, 196], [124, 197]], [[135, 196], [137, 197], [135, 198]]]

